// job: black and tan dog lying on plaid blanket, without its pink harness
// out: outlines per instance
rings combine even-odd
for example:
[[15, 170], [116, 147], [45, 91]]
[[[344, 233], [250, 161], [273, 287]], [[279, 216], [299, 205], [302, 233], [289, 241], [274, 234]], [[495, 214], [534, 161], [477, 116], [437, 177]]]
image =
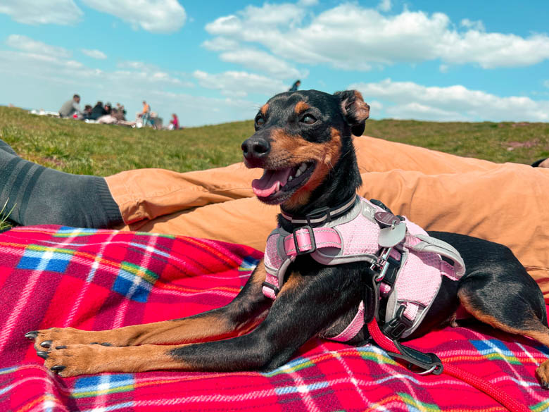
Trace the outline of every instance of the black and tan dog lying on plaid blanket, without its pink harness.
[[[309, 216], [314, 226], [310, 216], [334, 212], [344, 199], [353, 202], [362, 184], [353, 135], [362, 135], [369, 115], [370, 106], [356, 91], [285, 92], [260, 108], [255, 134], [241, 148], [248, 168], [264, 169], [253, 191], [265, 204], [281, 206], [282, 230], [291, 234], [305, 227], [291, 216]], [[391, 229], [395, 223], [400, 222], [393, 221]], [[467, 270], [457, 281], [443, 277], [430, 310], [409, 337], [453, 321], [461, 304], [477, 320], [549, 345], [543, 294], [510, 249], [455, 233], [428, 235], [457, 249]], [[34, 340], [46, 367], [62, 377], [161, 369], [272, 370], [311, 337], [341, 334], [357, 318], [361, 302], [377, 301], [363, 287], [372, 267], [364, 261], [327, 266], [310, 253], [296, 254], [278, 288], [267, 282], [263, 260], [236, 298], [212, 311], [115, 330], [53, 327], [25, 337]], [[267, 296], [266, 289], [276, 296]], [[362, 327], [350, 342], [363, 342], [368, 335]], [[536, 374], [549, 388], [549, 361]]]

